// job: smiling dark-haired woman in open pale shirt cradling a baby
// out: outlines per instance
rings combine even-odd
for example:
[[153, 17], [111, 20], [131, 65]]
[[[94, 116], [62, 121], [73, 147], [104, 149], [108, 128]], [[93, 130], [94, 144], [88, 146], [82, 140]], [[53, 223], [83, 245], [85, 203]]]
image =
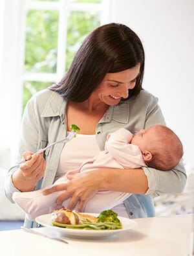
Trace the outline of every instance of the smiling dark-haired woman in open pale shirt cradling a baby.
[[[77, 169], [103, 150], [110, 132], [123, 127], [136, 134], [142, 128], [165, 124], [158, 99], [142, 89], [144, 60], [140, 39], [125, 25], [111, 23], [89, 34], [65, 77], [27, 104], [18, 160], [25, 152], [23, 157], [28, 161], [10, 169], [5, 184], [10, 201], [15, 191], [47, 187], [65, 172]], [[65, 146], [53, 146], [44, 157], [32, 156], [32, 152], [65, 137], [70, 124], [81, 128], [76, 139]], [[137, 218], [154, 216], [150, 196], [181, 192], [186, 172], [179, 163], [169, 172], [148, 167], [97, 169], [68, 178], [46, 189], [45, 194], [61, 191], [57, 204], [71, 198], [69, 207], [78, 202], [83, 211], [87, 200], [99, 190], [133, 193], [113, 210], [120, 216]]]

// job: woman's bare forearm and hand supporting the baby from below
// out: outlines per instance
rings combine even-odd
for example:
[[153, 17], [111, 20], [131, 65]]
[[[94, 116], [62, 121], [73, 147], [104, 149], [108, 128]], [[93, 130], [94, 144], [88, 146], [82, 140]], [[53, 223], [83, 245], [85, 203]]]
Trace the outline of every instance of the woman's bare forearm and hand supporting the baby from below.
[[[45, 189], [44, 194], [61, 191], [56, 200], [58, 205], [71, 198], [69, 208], [73, 209], [79, 202], [78, 211], [83, 211], [85, 204], [97, 191], [109, 190], [145, 194], [147, 177], [142, 169], [99, 169], [67, 175], [69, 182], [53, 185]], [[64, 192], [62, 192], [64, 191]]]

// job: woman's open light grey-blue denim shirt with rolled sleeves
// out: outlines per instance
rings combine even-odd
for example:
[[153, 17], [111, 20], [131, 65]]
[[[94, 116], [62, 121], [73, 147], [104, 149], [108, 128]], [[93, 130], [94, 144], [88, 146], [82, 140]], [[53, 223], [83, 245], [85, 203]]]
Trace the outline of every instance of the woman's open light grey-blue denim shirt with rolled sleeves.
[[[67, 100], [49, 89], [39, 91], [29, 100], [21, 122], [17, 161], [22, 159], [23, 152], [36, 152], [48, 143], [66, 136], [66, 106]], [[140, 129], [149, 128], [154, 124], [165, 124], [158, 99], [142, 90], [136, 98], [109, 107], [96, 126], [96, 141], [100, 150], [103, 150], [107, 134], [121, 127], [136, 134]], [[45, 175], [36, 189], [47, 187], [54, 182], [62, 148], [63, 144], [60, 143], [45, 151]], [[11, 179], [12, 173], [18, 168], [17, 163], [10, 168], [5, 181], [5, 194], [10, 202], [13, 202], [13, 192], [18, 191]], [[154, 216], [151, 196], [182, 192], [186, 184], [186, 171], [182, 161], [175, 169], [166, 172], [149, 167], [143, 167], [143, 170], [147, 176], [149, 189], [146, 196], [133, 194], [125, 200], [124, 204], [130, 218]]]

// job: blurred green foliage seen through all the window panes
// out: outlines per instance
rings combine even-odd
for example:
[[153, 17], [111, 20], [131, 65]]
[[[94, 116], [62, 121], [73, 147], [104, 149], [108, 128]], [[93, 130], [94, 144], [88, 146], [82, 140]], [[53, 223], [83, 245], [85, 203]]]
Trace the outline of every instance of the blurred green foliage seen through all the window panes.
[[[101, 0], [71, 0], [71, 2], [100, 3]], [[30, 10], [28, 12], [26, 22], [25, 72], [56, 73], [58, 19], [59, 14], [56, 10]], [[80, 47], [85, 36], [99, 25], [99, 12], [72, 11], [70, 13], [67, 19], [66, 70], [64, 70], [64, 74], [69, 68], [74, 54]], [[54, 81], [25, 81], [23, 83], [23, 109], [34, 93], [53, 83]]]

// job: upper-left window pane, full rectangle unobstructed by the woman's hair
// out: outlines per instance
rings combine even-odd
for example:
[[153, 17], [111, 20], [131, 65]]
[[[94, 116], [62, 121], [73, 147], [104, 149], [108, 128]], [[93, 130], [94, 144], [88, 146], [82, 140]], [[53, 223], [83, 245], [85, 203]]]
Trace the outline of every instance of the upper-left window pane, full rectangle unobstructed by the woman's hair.
[[30, 10], [27, 14], [25, 71], [56, 73], [58, 12]]

